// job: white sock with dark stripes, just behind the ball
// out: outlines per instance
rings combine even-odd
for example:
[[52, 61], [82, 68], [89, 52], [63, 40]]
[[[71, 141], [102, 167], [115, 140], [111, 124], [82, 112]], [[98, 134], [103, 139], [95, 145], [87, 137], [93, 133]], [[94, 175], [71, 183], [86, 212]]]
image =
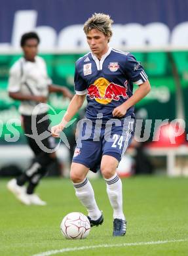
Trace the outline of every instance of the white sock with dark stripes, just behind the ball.
[[88, 179], [84, 179], [82, 182], [73, 183], [77, 198], [83, 203], [88, 210], [88, 216], [96, 221], [101, 216], [101, 211], [98, 209], [96, 200], [94, 198], [94, 190]]

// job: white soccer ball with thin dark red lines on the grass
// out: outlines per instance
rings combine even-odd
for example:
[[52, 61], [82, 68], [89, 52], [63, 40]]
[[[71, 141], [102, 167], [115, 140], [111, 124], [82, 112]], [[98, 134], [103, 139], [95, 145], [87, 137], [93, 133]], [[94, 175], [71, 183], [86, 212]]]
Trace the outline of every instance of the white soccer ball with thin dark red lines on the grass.
[[83, 213], [69, 213], [60, 228], [67, 239], [84, 239], [90, 232], [90, 222]]

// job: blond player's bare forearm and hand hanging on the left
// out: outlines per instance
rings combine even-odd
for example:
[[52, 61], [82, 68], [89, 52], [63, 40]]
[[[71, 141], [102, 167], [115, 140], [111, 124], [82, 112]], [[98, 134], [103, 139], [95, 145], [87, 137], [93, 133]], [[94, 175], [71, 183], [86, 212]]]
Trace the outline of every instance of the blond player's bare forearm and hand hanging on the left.
[[69, 106], [67, 108], [66, 114], [62, 121], [52, 127], [51, 133], [54, 137], [60, 137], [60, 132], [63, 131], [64, 127], [66, 127], [67, 123], [72, 119], [73, 116], [79, 111], [81, 106], [83, 106], [83, 102], [85, 101], [86, 95], [75, 95], [73, 96]]

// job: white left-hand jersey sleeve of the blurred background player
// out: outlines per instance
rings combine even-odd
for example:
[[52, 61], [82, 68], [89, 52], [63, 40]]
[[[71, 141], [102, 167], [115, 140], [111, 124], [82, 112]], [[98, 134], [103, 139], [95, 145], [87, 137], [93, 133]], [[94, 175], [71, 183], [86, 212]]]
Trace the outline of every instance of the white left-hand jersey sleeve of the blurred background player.
[[21, 68], [18, 65], [10, 68], [9, 72], [9, 93], [17, 93], [21, 89]]

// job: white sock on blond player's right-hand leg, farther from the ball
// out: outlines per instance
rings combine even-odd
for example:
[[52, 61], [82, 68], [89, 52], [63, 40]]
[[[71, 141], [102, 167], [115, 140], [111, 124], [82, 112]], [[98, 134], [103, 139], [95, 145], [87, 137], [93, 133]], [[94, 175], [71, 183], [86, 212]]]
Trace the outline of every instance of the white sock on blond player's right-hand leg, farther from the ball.
[[117, 173], [110, 179], [105, 179], [107, 195], [113, 207], [113, 219], [125, 219], [122, 212], [122, 182]]

